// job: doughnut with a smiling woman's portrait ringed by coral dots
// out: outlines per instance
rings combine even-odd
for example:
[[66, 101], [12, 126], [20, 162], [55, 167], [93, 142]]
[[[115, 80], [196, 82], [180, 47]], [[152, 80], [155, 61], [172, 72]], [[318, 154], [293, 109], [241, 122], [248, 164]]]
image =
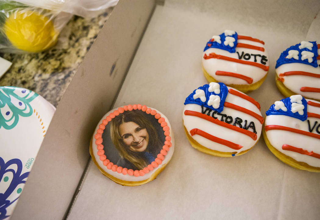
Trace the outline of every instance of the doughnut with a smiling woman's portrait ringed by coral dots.
[[173, 151], [174, 138], [167, 117], [140, 104], [121, 106], [105, 114], [90, 143], [92, 160], [101, 173], [125, 186], [155, 179]]

